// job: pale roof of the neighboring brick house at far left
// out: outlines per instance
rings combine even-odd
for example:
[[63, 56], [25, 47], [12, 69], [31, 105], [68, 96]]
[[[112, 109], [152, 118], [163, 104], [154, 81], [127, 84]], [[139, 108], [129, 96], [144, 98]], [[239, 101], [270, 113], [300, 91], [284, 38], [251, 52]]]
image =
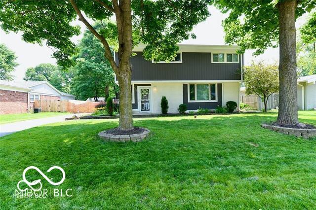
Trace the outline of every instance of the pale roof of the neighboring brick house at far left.
[[[62, 96], [73, 96], [71, 94], [64, 93], [64, 92], [57, 90], [54, 86], [52, 86], [47, 81], [5, 81], [5, 80], [0, 80], [0, 86], [21, 88], [24, 90], [28, 90], [28, 92], [32, 92], [32, 87], [43, 84], [43, 83], [47, 84], [49, 87], [54, 89], [57, 93], [59, 93]], [[75, 97], [75, 96], [73, 96], [73, 97]]]

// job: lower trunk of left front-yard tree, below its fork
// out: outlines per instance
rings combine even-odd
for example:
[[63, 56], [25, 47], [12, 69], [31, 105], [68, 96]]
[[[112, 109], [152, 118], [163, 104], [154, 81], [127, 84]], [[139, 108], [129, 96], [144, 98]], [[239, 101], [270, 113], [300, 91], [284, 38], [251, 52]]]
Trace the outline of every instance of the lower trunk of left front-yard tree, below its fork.
[[119, 128], [131, 130], [133, 128], [132, 97], [131, 97], [131, 70], [119, 70]]

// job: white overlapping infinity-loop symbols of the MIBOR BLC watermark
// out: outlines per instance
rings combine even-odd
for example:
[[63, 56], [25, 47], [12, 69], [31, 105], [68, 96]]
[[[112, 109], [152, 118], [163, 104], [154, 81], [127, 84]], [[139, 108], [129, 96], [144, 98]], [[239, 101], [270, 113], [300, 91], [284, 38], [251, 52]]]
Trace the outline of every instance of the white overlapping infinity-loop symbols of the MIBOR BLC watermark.
[[[59, 185], [59, 184], [63, 183], [64, 180], [65, 180], [65, 178], [66, 178], [65, 171], [64, 171], [62, 168], [60, 168], [59, 166], [53, 166], [53, 167], [50, 167], [50, 168], [47, 170], [47, 172], [50, 172], [50, 171], [52, 171], [52, 170], [54, 170], [54, 169], [58, 169], [59, 171], [61, 171], [61, 173], [63, 174], [63, 177], [62, 177], [62, 179], [61, 179], [59, 182], [53, 182], [53, 181], [51, 181], [44, 173], [42, 173], [42, 172], [40, 171], [40, 169], [39, 169], [38, 167], [29, 166], [29, 167], [27, 167], [26, 169], [24, 169], [23, 175], [22, 175], [23, 179], [20, 180], [20, 181], [18, 182], [18, 184], [17, 184], [17, 187], [18, 187], [18, 189], [19, 189], [21, 192], [26, 191], [26, 190], [28, 189], [28, 188], [25, 188], [25, 189], [21, 190], [21, 188], [19, 187], [19, 185], [20, 185], [21, 182], [26, 183], [33, 191], [40, 191], [40, 189], [41, 189], [41, 187], [42, 187], [41, 179], [34, 180], [34, 181], [32, 181], [32, 182], [30, 182], [30, 181], [28, 181], [28, 180], [26, 179], [25, 174], [26, 174], [26, 172], [29, 171], [30, 169], [34, 169], [34, 170], [36, 170], [37, 172], [39, 172], [40, 175], [42, 175], [42, 176], [43, 176], [50, 184], [52, 184], [52, 185]], [[40, 184], [40, 188], [34, 189], [34, 188], [32, 187], [32, 186], [34, 186], [34, 185], [36, 185], [36, 184]]]

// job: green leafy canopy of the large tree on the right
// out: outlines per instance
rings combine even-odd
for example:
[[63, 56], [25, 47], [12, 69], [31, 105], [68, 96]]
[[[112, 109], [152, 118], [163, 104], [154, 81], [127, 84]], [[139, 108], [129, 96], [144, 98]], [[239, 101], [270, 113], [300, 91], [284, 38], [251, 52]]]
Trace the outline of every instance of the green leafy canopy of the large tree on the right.
[[[276, 4], [281, 1], [283, 0], [214, 0], [222, 12], [230, 12], [223, 22], [225, 41], [239, 45], [241, 53], [246, 49], [256, 49], [255, 55], [263, 53], [268, 47], [277, 47], [279, 12]], [[314, 0], [298, 1], [295, 18], [311, 11], [315, 6]]]

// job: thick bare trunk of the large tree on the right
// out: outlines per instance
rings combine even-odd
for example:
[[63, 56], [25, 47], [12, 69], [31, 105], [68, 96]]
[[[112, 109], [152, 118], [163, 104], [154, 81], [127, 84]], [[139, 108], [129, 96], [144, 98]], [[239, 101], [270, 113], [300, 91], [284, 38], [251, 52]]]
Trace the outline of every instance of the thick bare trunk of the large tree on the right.
[[277, 123], [297, 125], [296, 0], [277, 3], [279, 12], [279, 110]]

